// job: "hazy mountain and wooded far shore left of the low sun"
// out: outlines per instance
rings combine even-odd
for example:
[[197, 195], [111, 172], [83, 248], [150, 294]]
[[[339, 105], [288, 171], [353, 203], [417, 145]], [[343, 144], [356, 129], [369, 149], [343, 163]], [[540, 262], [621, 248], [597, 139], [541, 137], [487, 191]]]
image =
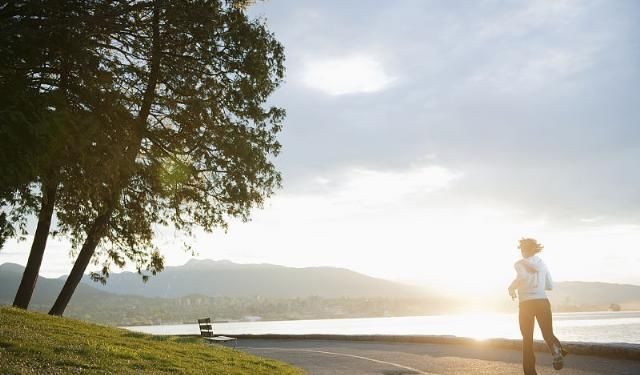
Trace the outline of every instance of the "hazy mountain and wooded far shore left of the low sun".
[[[294, 272], [287, 272], [291, 270]], [[0, 265], [0, 304], [12, 303], [23, 271], [24, 268], [19, 265]], [[157, 281], [158, 278], [152, 278], [150, 283], [143, 284], [140, 276], [135, 273], [115, 274], [109, 279], [107, 287], [101, 288], [102, 290], [96, 288], [99, 284], [85, 280], [90, 285], [83, 282], [78, 286], [65, 311], [65, 316], [111, 325], [142, 325], [193, 323], [204, 316], [221, 320], [242, 320], [247, 317], [291, 320], [414, 316], [450, 312], [452, 308], [448, 299], [425, 297], [424, 294], [411, 297], [411, 295], [415, 296], [415, 293], [422, 293], [421, 289], [347, 270], [312, 269], [309, 273], [310, 277], [302, 281], [296, 278], [304, 278], [306, 273], [300, 274], [299, 269], [272, 265], [238, 265], [225, 261], [192, 261], [185, 266], [168, 267], [166, 271], [167, 273], [163, 273], [166, 280], [160, 279], [163, 282], [155, 285], [153, 281]], [[239, 273], [228, 275], [226, 272]], [[252, 275], [253, 273], [258, 276]], [[343, 275], [342, 280], [330, 279], [331, 277], [340, 278]], [[212, 280], [218, 280], [218, 282], [210, 284]], [[220, 280], [223, 281], [220, 282]], [[324, 288], [336, 288], [341, 281], [344, 281], [341, 287], [349, 291], [350, 295], [341, 292], [333, 293], [340, 297], [326, 296], [331, 293], [321, 295]], [[235, 283], [233, 288], [224, 287], [223, 283], [229, 282]], [[29, 308], [48, 311], [63, 283], [64, 277], [59, 279], [40, 277]], [[291, 289], [295, 292], [283, 293], [283, 290], [287, 289], [287, 283], [290, 283]], [[322, 289], [315, 288], [317, 284], [322, 284]], [[194, 287], [189, 288], [189, 285]], [[213, 293], [196, 292], [195, 289], [208, 291], [207, 285], [213, 285], [215, 288], [211, 290], [219, 294], [211, 296]], [[147, 289], [147, 287], [150, 288]], [[308, 287], [311, 292], [305, 291], [304, 287]], [[119, 288], [119, 293], [106, 291], [112, 288]], [[280, 289], [277, 293], [274, 292], [278, 288]], [[367, 293], [368, 288], [379, 288], [381, 292]], [[149, 293], [151, 291], [161, 293], [167, 290], [179, 296], [160, 298], [152, 297]], [[361, 290], [365, 291], [361, 292]], [[135, 291], [140, 295], [122, 294]], [[396, 294], [385, 296], [383, 293]], [[220, 296], [222, 294], [224, 296]], [[360, 295], [365, 297], [357, 297]], [[374, 295], [382, 297], [372, 297]], [[349, 298], [342, 298], [343, 296], [349, 296]]]

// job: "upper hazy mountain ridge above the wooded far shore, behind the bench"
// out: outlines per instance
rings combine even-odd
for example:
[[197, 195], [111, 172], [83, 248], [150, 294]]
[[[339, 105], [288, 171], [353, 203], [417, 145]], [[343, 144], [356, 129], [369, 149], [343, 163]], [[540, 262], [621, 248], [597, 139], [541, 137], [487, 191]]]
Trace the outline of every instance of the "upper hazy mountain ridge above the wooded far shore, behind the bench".
[[[88, 278], [85, 282], [91, 282]], [[292, 268], [272, 264], [190, 260], [167, 267], [142, 283], [134, 272], [111, 274], [102, 291], [146, 297], [176, 298], [189, 294], [210, 297], [358, 298], [425, 297], [426, 289], [366, 276], [343, 268]]]

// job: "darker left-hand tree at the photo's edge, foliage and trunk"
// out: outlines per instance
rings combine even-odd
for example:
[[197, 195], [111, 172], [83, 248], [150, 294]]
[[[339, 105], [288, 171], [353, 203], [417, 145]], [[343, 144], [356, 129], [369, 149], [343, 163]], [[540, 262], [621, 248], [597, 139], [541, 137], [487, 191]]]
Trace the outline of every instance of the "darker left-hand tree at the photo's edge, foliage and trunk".
[[116, 120], [117, 93], [96, 47], [117, 10], [118, 2], [88, 0], [0, 3], [3, 237], [16, 234], [16, 225], [24, 229], [28, 215], [38, 216], [14, 306], [27, 308], [35, 288], [61, 176], [74, 186], [66, 190], [72, 197], [91, 189], [86, 174], [73, 172], [87, 170], [78, 164]]

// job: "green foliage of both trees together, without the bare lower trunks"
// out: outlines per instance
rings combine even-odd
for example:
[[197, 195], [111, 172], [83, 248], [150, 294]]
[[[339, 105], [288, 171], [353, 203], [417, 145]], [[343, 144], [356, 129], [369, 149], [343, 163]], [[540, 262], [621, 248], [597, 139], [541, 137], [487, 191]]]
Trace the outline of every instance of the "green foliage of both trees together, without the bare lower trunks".
[[284, 110], [265, 102], [284, 53], [247, 4], [0, 2], [2, 233], [53, 184], [57, 232], [97, 246], [104, 282], [126, 262], [163, 269], [156, 224], [248, 220], [281, 182]]

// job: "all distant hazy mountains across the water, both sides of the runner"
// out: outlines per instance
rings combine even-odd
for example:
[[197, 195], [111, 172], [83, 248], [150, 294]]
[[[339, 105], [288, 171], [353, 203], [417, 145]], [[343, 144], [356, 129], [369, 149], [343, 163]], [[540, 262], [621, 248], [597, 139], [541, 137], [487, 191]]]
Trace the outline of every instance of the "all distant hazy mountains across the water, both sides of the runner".
[[[13, 302], [23, 271], [16, 264], [0, 265], [0, 304]], [[48, 311], [63, 283], [64, 277], [40, 277], [30, 308]], [[640, 309], [637, 285], [558, 282], [549, 296], [556, 311], [596, 311], [612, 304], [623, 310]], [[465, 302], [341, 268], [192, 260], [167, 267], [147, 283], [132, 272], [112, 274], [106, 286], [87, 276], [67, 315], [109, 324], [159, 324], [200, 315], [225, 319], [404, 316], [461, 311]], [[504, 297], [485, 302], [488, 308], [515, 308]]]

